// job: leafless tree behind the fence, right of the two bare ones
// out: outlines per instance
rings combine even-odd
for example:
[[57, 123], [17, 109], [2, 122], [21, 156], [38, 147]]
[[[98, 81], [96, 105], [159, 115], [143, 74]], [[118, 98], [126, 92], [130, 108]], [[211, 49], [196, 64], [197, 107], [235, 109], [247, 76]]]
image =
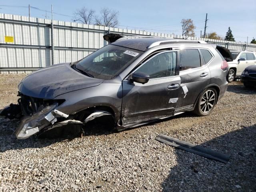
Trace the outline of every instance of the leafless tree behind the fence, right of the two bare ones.
[[94, 18], [95, 24], [106, 27], [116, 27], [118, 25], [118, 15], [119, 11], [110, 8], [102, 8], [100, 10], [100, 16]]

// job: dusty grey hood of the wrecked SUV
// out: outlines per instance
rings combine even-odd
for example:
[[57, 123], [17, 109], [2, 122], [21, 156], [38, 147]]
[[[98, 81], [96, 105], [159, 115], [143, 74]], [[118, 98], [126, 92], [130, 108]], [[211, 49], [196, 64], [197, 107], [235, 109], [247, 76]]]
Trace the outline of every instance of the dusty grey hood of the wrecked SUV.
[[24, 95], [54, 99], [61, 94], [97, 86], [102, 79], [90, 78], [70, 67], [69, 63], [42, 68], [26, 76], [18, 85]]

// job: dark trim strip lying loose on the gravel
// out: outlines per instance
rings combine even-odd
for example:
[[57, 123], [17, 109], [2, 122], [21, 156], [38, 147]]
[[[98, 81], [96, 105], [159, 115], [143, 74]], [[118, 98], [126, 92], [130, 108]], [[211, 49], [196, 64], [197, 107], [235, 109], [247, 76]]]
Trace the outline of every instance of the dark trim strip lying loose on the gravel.
[[166, 136], [164, 134], [159, 134], [156, 137], [156, 140], [168, 144], [170, 146], [174, 146], [176, 148], [180, 148], [186, 150], [188, 152], [192, 152], [206, 158], [218, 160], [223, 163], [228, 163], [230, 159], [230, 155], [226, 155], [220, 152], [216, 152], [214, 150], [210, 150], [201, 146], [194, 145], [192, 143], [188, 143], [170, 136]]

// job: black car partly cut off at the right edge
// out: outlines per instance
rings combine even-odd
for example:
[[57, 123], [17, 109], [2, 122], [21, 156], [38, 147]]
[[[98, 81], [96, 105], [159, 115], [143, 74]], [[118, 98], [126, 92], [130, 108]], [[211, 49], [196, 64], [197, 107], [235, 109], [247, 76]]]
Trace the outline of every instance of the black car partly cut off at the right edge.
[[244, 69], [241, 82], [245, 87], [256, 87], [256, 65], [250, 65]]

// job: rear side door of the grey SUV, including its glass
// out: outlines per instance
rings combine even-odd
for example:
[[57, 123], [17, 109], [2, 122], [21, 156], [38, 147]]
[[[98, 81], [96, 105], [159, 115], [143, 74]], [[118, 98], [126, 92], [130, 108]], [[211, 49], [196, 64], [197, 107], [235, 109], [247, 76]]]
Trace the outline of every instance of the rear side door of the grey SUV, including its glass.
[[213, 54], [208, 49], [180, 50], [181, 89], [175, 112], [193, 108], [198, 95], [210, 82], [211, 74], [206, 64], [212, 58]]

